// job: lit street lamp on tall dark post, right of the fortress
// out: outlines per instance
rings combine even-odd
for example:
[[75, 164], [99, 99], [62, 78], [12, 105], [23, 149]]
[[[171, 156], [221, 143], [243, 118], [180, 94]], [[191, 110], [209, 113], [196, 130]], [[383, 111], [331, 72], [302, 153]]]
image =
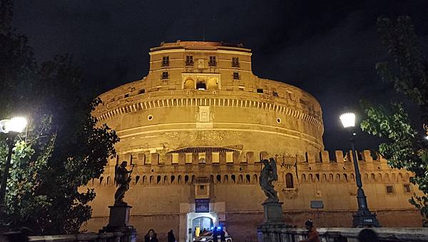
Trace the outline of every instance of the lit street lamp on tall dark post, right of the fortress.
[[354, 113], [345, 113], [340, 115], [340, 121], [345, 129], [351, 133], [351, 147], [352, 147], [352, 159], [354, 160], [354, 170], [355, 170], [355, 181], [357, 183], [357, 202], [358, 202], [358, 211], [352, 217], [352, 226], [354, 227], [380, 227], [379, 221], [377, 221], [376, 214], [371, 213], [367, 206], [367, 199], [362, 189], [362, 181], [360, 168], [358, 168], [358, 158], [357, 153], [355, 153], [354, 141], [355, 136], [355, 114]]

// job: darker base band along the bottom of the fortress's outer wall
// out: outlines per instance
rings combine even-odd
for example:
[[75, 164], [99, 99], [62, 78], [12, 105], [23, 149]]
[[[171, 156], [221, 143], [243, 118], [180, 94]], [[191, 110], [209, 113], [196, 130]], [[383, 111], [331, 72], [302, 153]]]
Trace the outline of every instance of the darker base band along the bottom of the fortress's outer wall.
[[[290, 226], [302, 228], [309, 218], [314, 220], [318, 228], [346, 228], [352, 226], [352, 213], [350, 211], [320, 211], [319, 218], [316, 211], [285, 211], [283, 213], [285, 223]], [[422, 216], [416, 210], [377, 211], [377, 218], [383, 227], [420, 227]], [[264, 221], [263, 211], [255, 212], [226, 212], [226, 229], [233, 241], [250, 242], [258, 241], [257, 228]], [[131, 225], [137, 229], [138, 241], [143, 241], [150, 228], [158, 234], [159, 241], [166, 241], [166, 235], [173, 229], [175, 238], [180, 238], [180, 215], [138, 215], [133, 216], [131, 210]], [[92, 218], [83, 229], [98, 232], [98, 229], [106, 226], [108, 217]]]

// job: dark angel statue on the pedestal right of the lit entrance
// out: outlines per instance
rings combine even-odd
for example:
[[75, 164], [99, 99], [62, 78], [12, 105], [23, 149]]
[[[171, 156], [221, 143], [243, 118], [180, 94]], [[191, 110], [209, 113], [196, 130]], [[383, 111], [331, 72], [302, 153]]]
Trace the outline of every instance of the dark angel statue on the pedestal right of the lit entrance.
[[273, 189], [272, 181], [278, 180], [276, 161], [274, 158], [263, 159], [263, 165], [265, 165], [260, 173], [260, 187], [265, 192], [267, 199], [265, 203], [277, 203], [279, 201], [277, 191]]

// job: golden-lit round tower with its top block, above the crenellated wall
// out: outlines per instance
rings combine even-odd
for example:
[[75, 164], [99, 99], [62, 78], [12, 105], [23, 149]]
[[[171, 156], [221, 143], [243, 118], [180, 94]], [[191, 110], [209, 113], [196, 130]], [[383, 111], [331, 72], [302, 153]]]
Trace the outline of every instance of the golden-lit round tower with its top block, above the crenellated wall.
[[119, 153], [324, 148], [320, 104], [295, 86], [255, 76], [250, 49], [177, 41], [152, 48], [150, 56], [148, 76], [102, 94], [94, 112], [118, 132]]

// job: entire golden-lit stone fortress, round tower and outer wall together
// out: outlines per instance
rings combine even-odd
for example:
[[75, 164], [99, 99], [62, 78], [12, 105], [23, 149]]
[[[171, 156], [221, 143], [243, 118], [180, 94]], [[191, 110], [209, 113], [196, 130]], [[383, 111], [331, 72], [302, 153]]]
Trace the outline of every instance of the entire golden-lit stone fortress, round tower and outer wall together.
[[[173, 229], [193, 241], [203, 228], [225, 226], [233, 241], [257, 241], [265, 195], [260, 159], [275, 157], [275, 183], [285, 221], [350, 227], [357, 210], [350, 151], [324, 151], [322, 110], [295, 86], [261, 79], [241, 44], [177, 41], [150, 51], [150, 71], [100, 98], [93, 111], [117, 131], [118, 157], [109, 161], [86, 225], [97, 231], [113, 205], [114, 166], [133, 168], [125, 201], [143, 239], [149, 228], [163, 240]], [[412, 173], [392, 169], [372, 151], [357, 151], [367, 202], [382, 226], [421, 226], [408, 200]], [[323, 208], [311, 208], [312, 204]]]

